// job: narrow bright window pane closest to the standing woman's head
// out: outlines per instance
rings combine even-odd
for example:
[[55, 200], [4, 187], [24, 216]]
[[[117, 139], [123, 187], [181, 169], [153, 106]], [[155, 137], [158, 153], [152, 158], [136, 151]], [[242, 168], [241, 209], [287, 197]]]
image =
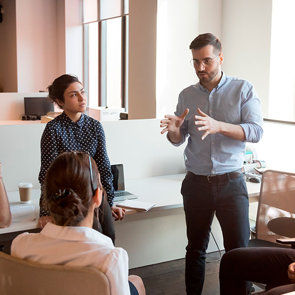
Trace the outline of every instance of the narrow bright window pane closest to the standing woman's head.
[[88, 25], [89, 107], [98, 106], [98, 22]]

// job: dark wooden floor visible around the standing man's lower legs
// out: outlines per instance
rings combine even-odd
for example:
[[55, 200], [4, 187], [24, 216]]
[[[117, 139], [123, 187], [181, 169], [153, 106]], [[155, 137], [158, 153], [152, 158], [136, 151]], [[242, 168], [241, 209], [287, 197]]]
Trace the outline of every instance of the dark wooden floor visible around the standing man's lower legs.
[[[221, 251], [222, 254], [224, 251]], [[218, 252], [207, 254], [207, 261], [219, 258]], [[219, 295], [220, 261], [206, 264], [206, 277], [202, 295]], [[129, 274], [139, 275], [145, 284], [147, 295], [185, 295], [185, 260], [178, 259], [129, 270]]]

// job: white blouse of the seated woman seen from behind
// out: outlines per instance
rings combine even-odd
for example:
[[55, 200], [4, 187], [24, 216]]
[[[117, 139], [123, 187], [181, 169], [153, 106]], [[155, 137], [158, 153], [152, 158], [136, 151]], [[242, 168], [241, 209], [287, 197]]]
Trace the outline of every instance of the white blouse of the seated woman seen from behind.
[[112, 295], [130, 295], [127, 252], [89, 227], [48, 222], [38, 234], [17, 236], [11, 255], [41, 264], [95, 267], [109, 279]]

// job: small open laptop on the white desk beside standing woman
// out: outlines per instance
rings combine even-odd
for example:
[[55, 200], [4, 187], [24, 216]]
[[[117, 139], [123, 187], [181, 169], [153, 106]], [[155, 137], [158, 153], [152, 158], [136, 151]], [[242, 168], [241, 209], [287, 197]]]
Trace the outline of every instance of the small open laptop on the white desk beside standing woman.
[[138, 196], [125, 191], [123, 164], [111, 165], [111, 170], [113, 174], [113, 185], [115, 189], [114, 202], [123, 201], [126, 199], [137, 199]]

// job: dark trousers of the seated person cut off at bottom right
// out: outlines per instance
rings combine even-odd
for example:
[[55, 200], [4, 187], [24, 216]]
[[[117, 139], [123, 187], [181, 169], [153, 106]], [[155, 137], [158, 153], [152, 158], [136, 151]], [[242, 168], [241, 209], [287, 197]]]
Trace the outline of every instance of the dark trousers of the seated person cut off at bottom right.
[[[272, 247], [240, 248], [225, 253], [219, 270], [220, 295], [249, 295], [246, 281], [266, 284], [267, 295], [295, 291], [288, 279], [288, 266], [295, 262], [295, 250]], [[282, 286], [279, 288], [275, 288]], [[275, 288], [275, 289], [272, 289]]]

